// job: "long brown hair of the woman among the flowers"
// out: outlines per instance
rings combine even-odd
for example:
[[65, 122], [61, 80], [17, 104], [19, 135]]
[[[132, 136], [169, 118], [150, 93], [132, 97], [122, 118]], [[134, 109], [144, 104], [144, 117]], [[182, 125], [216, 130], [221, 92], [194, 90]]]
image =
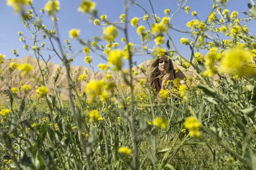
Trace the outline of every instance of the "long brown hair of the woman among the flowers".
[[[153, 61], [151, 62], [150, 73], [148, 77], [148, 84], [152, 89], [157, 89], [157, 91], [160, 91], [161, 85], [159, 84], [158, 79], [161, 77], [161, 74], [158, 67], [158, 61], [163, 57], [169, 57], [169, 56], [170, 54], [168, 52], [164, 53], [163, 56], [156, 55]], [[169, 70], [173, 70], [174, 67], [172, 64], [172, 60], [170, 58], [169, 58], [169, 61], [170, 61]]]

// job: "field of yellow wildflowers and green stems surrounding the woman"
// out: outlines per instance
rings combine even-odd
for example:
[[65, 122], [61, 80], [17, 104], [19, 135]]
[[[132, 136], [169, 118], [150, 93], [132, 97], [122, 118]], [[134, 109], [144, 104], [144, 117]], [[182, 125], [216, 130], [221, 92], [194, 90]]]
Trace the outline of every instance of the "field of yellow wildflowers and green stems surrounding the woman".
[[[143, 3], [123, 0], [124, 13], [111, 22], [98, 14], [95, 2], [81, 0], [78, 12], [103, 28], [94, 40], [82, 40], [79, 29], [69, 31], [70, 39], [83, 45], [79, 52], [86, 63], [92, 66], [92, 52], [102, 57], [98, 67], [105, 79], [87, 81], [87, 72], [72, 77], [72, 46], [68, 39], [61, 42], [58, 32], [60, 2], [48, 0], [36, 11], [32, 0], [7, 0], [31, 33], [18, 32], [23, 48], [38, 59], [41, 76], [32, 74], [35, 68], [28, 63], [10, 60], [5, 70], [1, 65], [1, 79], [6, 80], [6, 94], [0, 95], [1, 169], [256, 170], [256, 39], [246, 26], [255, 22], [256, 6], [250, 0], [246, 17], [240, 19], [237, 11], [225, 8], [227, 1], [213, 0], [212, 11], [201, 20], [186, 6], [187, 0], [180, 0], [174, 13], [165, 9], [163, 17], [154, 13], [154, 6], [146, 11]], [[127, 20], [131, 4], [145, 15]], [[180, 12], [195, 17], [186, 24], [190, 31], [172, 26]], [[53, 28], [43, 23], [48, 15]], [[141, 44], [129, 41], [128, 25], [136, 28]], [[174, 42], [170, 30], [184, 37]], [[123, 49], [116, 40], [121, 32]], [[44, 40], [51, 42], [49, 46]], [[180, 54], [177, 43], [190, 49], [189, 59]], [[57, 68], [54, 77], [49, 75], [48, 56], [41, 54], [45, 48], [62, 61], [63, 68]], [[190, 88], [177, 78], [174, 87], [167, 81], [169, 88], [157, 93], [148, 85], [149, 66], [131, 69], [134, 56], [165, 52], [195, 75], [185, 79]], [[17, 57], [17, 50], [13, 54]], [[0, 63], [4, 57], [0, 54]], [[128, 71], [122, 69], [125, 60]], [[14, 86], [15, 71], [34, 84], [21, 81]], [[67, 89], [59, 84], [60, 74], [66, 76]], [[122, 79], [114, 79], [116, 75]], [[85, 82], [83, 91], [77, 82]]]

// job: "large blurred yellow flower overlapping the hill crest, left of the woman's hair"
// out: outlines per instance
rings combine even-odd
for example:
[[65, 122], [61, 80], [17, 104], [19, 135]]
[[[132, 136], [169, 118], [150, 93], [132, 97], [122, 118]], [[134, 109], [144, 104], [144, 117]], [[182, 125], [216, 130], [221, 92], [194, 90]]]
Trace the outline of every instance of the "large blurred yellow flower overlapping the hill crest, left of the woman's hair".
[[119, 70], [122, 68], [122, 57], [123, 52], [120, 50], [113, 50], [108, 55], [108, 62], [114, 65], [114, 70]]

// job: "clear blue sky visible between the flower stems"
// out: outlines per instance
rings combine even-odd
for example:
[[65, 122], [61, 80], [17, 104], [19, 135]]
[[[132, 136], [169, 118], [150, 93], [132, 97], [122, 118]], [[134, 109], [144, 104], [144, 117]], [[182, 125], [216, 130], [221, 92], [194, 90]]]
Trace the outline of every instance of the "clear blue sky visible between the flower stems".
[[[80, 0], [60, 0], [61, 10], [57, 13], [57, 17], [59, 19], [58, 28], [60, 31], [61, 42], [63, 42], [63, 45], [65, 39], [70, 39], [68, 37], [68, 31], [73, 28], [81, 30], [80, 38], [83, 40], [92, 40], [93, 36], [102, 35], [103, 26], [94, 26], [93, 22], [89, 22], [90, 17], [87, 14], [81, 14], [81, 12], [77, 11], [80, 2]], [[97, 3], [96, 8], [98, 10], [99, 16], [101, 14], [106, 14], [111, 22], [119, 21], [119, 16], [124, 12], [122, 0], [94, 0], [94, 2]], [[177, 10], [177, 3], [179, 3], [179, 0], [151, 0], [151, 2], [154, 6], [154, 11], [157, 14], [157, 16], [164, 17], [166, 15], [164, 14], [163, 11], [166, 8], [171, 9], [172, 13], [174, 13]], [[44, 7], [45, 3], [47, 3], [47, 0], [33, 0], [35, 10], [38, 11], [38, 13], [40, 8]], [[152, 10], [148, 0], [137, 0], [137, 3], [143, 6], [148, 11], [149, 14], [152, 14]], [[242, 14], [242, 11], [249, 11], [247, 3], [250, 3], [250, 0], [230, 0], [230, 2], [226, 3], [226, 5], [227, 9], [230, 10], [230, 13], [232, 11], [239, 11], [239, 18], [247, 18], [246, 15]], [[212, 5], [212, 0], [188, 0], [186, 6], [191, 7], [189, 14], [186, 14], [184, 10], [179, 11], [179, 13], [177, 13], [177, 15], [175, 15], [175, 17], [173, 18], [171, 24], [172, 26], [178, 29], [189, 31], [189, 28], [186, 27], [186, 23], [192, 19], [195, 19], [195, 17], [191, 15], [191, 12], [197, 11], [199, 19], [206, 20], [207, 16], [209, 15], [209, 12], [212, 9]], [[131, 20], [135, 16], [143, 17], [144, 14], [145, 13], [142, 9], [140, 9], [136, 5], [132, 5], [131, 8], [129, 8], [127, 20]], [[31, 37], [29, 31], [21, 23], [22, 21], [20, 19], [20, 16], [18, 14], [14, 14], [13, 8], [6, 6], [5, 0], [0, 0], [0, 16], [0, 54], [6, 55], [6, 58], [14, 58], [12, 50], [17, 49], [19, 58], [26, 57], [28, 55], [35, 57], [34, 54], [29, 53], [23, 48], [24, 44], [23, 42], [19, 41], [19, 35], [17, 34], [18, 31], [22, 31], [25, 37]], [[51, 18], [48, 17], [47, 14], [44, 14], [43, 24], [45, 24], [47, 28], [51, 28], [53, 25]], [[146, 26], [146, 22], [140, 20], [139, 25]], [[140, 44], [140, 37], [136, 33], [136, 28], [131, 27], [130, 24], [128, 24], [128, 26], [128, 36], [130, 42], [133, 42], [134, 44]], [[250, 32], [253, 35], [255, 35], [255, 29], [253, 28], [255, 28], [256, 26], [256, 21], [250, 21], [247, 24], [247, 26]], [[172, 30], [169, 31], [169, 33], [172, 39], [174, 40], [177, 49], [180, 51], [180, 53], [183, 54], [183, 56], [185, 56], [186, 58], [189, 58], [189, 46], [181, 45], [180, 38], [189, 37], [191, 39], [190, 34], [179, 33], [177, 31]], [[120, 44], [120, 48], [123, 47], [123, 43], [121, 42], [122, 37], [124, 37], [124, 35], [122, 32], [120, 32], [119, 36], [116, 39], [116, 42], [119, 42]], [[29, 43], [29, 45], [32, 46], [32, 42], [27, 42]], [[49, 41], [45, 40], [42, 42], [45, 42], [45, 47], [50, 47]], [[82, 48], [82, 46], [79, 44], [79, 42], [77, 42], [77, 40], [70, 39], [70, 43], [72, 45], [73, 52]], [[102, 42], [102, 44], [105, 45], [104, 42]], [[151, 47], [153, 47], [153, 45], [151, 45]], [[42, 54], [46, 59], [48, 59], [49, 54], [52, 53], [50, 51], [42, 51]], [[96, 54], [91, 54], [91, 56], [93, 57], [93, 67], [95, 71], [98, 71], [97, 65], [105, 61]], [[72, 65], [84, 65], [90, 68], [90, 66], [84, 62], [84, 57], [85, 55], [83, 53], [79, 54], [74, 59]], [[151, 58], [152, 57], [150, 55], [146, 56], [146, 59]], [[143, 56], [134, 56], [133, 60], [137, 61], [137, 64], [140, 64], [144, 61]], [[61, 61], [57, 57], [53, 57], [50, 60], [50, 62], [53, 62], [55, 64], [61, 64]], [[128, 68], [128, 64], [126, 63], [124, 67]]]

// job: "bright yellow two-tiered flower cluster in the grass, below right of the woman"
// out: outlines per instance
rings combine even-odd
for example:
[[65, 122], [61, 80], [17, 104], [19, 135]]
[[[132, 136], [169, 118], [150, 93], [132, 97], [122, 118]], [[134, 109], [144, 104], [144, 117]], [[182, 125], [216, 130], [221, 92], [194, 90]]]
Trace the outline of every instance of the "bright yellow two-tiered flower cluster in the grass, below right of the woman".
[[186, 127], [186, 129], [190, 130], [189, 136], [200, 138], [201, 132], [199, 131], [199, 128], [202, 125], [199, 123], [197, 117], [190, 116], [186, 118], [186, 121], [184, 122], [184, 126]]

